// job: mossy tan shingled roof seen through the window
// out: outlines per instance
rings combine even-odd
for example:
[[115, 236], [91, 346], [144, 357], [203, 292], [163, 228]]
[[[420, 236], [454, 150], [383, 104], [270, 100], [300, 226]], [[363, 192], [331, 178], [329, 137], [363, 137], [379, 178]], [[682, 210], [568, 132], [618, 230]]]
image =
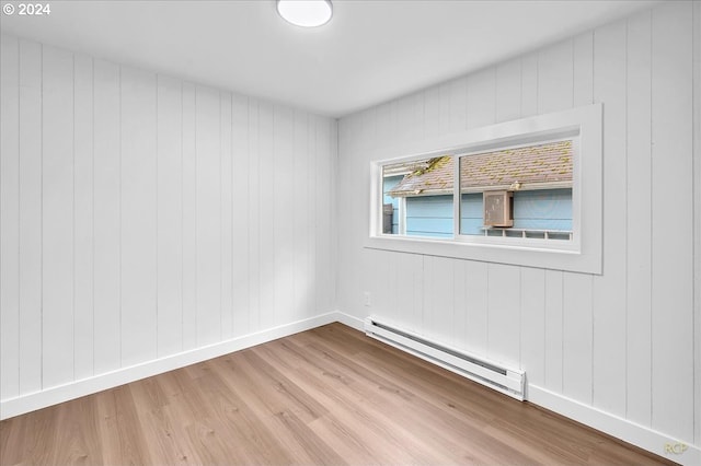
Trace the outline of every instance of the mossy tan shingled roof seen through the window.
[[[406, 164], [384, 165], [397, 173]], [[572, 140], [483, 152], [460, 158], [461, 193], [493, 189], [545, 189], [572, 186]], [[392, 197], [436, 196], [452, 193], [453, 158], [414, 162], [414, 168], [388, 194]]]

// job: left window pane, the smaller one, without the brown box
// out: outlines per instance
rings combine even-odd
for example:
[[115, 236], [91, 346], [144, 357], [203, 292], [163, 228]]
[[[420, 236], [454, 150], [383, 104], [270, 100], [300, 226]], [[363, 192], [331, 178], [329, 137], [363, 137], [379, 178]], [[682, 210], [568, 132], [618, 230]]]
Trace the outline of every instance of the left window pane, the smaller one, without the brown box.
[[382, 166], [386, 234], [452, 237], [452, 156]]

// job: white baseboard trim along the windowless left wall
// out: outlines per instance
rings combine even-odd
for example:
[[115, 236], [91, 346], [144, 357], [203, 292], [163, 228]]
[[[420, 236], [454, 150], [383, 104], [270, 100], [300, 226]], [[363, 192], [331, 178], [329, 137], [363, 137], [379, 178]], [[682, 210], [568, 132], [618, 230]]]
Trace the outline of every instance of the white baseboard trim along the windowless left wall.
[[16, 398], [0, 401], [0, 420], [31, 412], [59, 403], [80, 398], [119, 385], [128, 384], [140, 378], [162, 374], [174, 369], [218, 358], [233, 351], [261, 345], [278, 338], [309, 330], [333, 322], [343, 322], [353, 326], [353, 317], [338, 312], [330, 312], [315, 317], [292, 322], [263, 331], [244, 335], [230, 340], [220, 341], [206, 347], [196, 348], [181, 353], [168, 356], [128, 368], [117, 369], [92, 377], [82, 378], [65, 385], [54, 386], [41, 392], [30, 393]]

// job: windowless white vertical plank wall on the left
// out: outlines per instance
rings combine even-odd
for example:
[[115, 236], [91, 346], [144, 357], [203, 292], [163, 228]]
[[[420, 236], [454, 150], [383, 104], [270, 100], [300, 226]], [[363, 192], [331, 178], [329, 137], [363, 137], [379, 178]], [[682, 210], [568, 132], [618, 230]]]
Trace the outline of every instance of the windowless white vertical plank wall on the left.
[[335, 310], [333, 119], [1, 46], [2, 400]]

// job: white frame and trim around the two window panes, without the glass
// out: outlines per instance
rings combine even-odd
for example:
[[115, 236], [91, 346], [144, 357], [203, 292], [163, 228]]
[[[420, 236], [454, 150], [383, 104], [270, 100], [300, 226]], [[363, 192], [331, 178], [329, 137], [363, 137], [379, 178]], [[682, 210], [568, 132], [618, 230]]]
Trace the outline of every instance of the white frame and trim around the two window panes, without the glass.
[[[470, 129], [422, 141], [409, 148], [382, 151], [383, 160], [370, 162], [370, 221], [365, 246], [410, 254], [455, 257], [498, 264], [601, 273], [602, 256], [602, 105], [539, 115], [498, 125]], [[535, 144], [556, 139], [573, 140], [572, 213], [570, 241], [462, 235], [460, 184], [453, 183], [453, 237], [432, 238], [383, 234], [381, 195], [382, 166], [397, 162], [450, 154], [461, 155]], [[436, 150], [436, 148], [439, 148]], [[413, 155], [405, 155], [405, 154]], [[402, 155], [404, 154], [404, 155]], [[456, 166], [456, 165], [453, 165]], [[460, 171], [456, 168], [455, 176]], [[379, 230], [378, 230], [379, 229]], [[400, 229], [401, 231], [401, 229]]]

